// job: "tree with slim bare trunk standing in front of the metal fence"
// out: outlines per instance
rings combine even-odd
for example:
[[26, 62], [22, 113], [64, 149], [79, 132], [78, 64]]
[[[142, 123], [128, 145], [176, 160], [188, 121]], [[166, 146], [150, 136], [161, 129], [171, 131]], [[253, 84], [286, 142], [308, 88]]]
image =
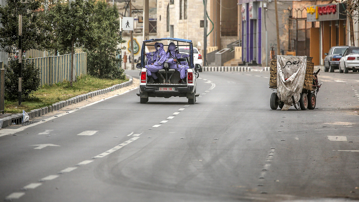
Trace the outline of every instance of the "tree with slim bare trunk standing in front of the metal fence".
[[59, 44], [60, 52], [71, 50], [71, 74], [70, 86], [73, 83], [74, 72], [74, 46], [87, 47], [88, 44], [95, 40], [93, 27], [89, 23], [89, 17], [93, 13], [94, 1], [76, 0], [59, 1], [55, 6], [55, 18], [57, 28], [55, 35]]

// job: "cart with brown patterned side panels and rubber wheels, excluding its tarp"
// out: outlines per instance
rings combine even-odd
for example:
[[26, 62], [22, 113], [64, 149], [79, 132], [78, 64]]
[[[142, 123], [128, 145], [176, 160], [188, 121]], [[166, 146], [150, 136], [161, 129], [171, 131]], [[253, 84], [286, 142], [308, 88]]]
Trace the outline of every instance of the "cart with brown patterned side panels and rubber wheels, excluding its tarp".
[[[307, 57], [307, 66], [306, 66], [306, 73], [304, 79], [304, 85], [302, 92], [300, 93], [299, 102], [295, 103], [294, 98], [293, 104], [296, 109], [300, 108], [301, 110], [306, 109], [314, 109], [317, 103], [317, 97], [319, 88], [321, 85], [318, 83], [318, 73], [314, 72], [314, 63], [312, 62], [313, 57]], [[271, 88], [274, 92], [271, 94], [270, 97], [270, 108], [277, 109], [278, 106], [280, 109], [283, 108], [284, 102], [282, 102], [278, 95], [277, 95], [277, 56], [273, 55], [271, 60], [270, 66], [270, 79], [269, 79], [269, 88]], [[297, 104], [299, 107], [297, 107]]]

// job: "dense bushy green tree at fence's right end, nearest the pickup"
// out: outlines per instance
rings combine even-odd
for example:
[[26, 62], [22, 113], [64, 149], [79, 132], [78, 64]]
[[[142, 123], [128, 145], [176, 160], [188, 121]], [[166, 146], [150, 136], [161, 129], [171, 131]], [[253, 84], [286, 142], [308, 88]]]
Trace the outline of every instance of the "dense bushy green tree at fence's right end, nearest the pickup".
[[120, 32], [120, 22], [116, 6], [107, 5], [106, 1], [97, 1], [90, 23], [98, 31], [96, 40], [87, 50], [87, 68], [90, 75], [100, 78], [124, 79], [123, 69], [119, 68], [121, 58], [116, 58], [124, 43]]

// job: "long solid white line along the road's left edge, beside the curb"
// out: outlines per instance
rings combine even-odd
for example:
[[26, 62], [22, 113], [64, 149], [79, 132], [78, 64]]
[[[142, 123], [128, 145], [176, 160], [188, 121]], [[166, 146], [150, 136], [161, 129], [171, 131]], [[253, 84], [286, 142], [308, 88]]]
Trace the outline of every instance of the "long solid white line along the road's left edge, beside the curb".
[[41, 124], [41, 123], [46, 123], [47, 121], [51, 121], [52, 119], [55, 119], [55, 118], [57, 118], [57, 117], [61, 117], [61, 116], [64, 116], [64, 115], [66, 115], [66, 114], [70, 114], [70, 113], [72, 113], [72, 112], [76, 112], [76, 111], [78, 111], [78, 110], [80, 110], [80, 109], [82, 109], [82, 108], [91, 106], [91, 105], [93, 105], [93, 104], [97, 104], [97, 103], [102, 102], [102, 101], [107, 100], [107, 99], [111, 99], [111, 98], [116, 97], [116, 96], [118, 96], [118, 95], [123, 95], [123, 94], [125, 94], [125, 93], [128, 93], [128, 92], [130, 92], [130, 91], [132, 91], [132, 90], [136, 90], [136, 89], [138, 89], [138, 88], [140, 88], [140, 87], [136, 87], [136, 88], [134, 88], [134, 89], [126, 90], [125, 92], [123, 92], [123, 93], [121, 93], [121, 94], [113, 95], [113, 96], [111, 96], [111, 97], [98, 100], [98, 101], [96, 101], [96, 102], [93, 102], [93, 103], [90, 103], [90, 104], [87, 104], [87, 105], [78, 107], [78, 108], [73, 109], [73, 110], [71, 110], [71, 111], [68, 111], [68, 112], [65, 112], [65, 113], [62, 113], [62, 114], [57, 114], [56, 117], [53, 116], [53, 117], [50, 117], [50, 118], [46, 118], [46, 119], [43, 119], [43, 121], [39, 121], [39, 122], [36, 122], [36, 123], [32, 123], [32, 124], [30, 124], [30, 125], [23, 126], [23, 127], [18, 128], [18, 129], [15, 129], [15, 130], [14, 130], [14, 129], [11, 129], [11, 130], [10, 130], [10, 129], [1, 130], [1, 132], [0, 132], [0, 137], [1, 137], [1, 136], [5, 136], [5, 135], [15, 134], [16, 132], [23, 131], [23, 130], [25, 130], [26, 128], [33, 127], [33, 126], [39, 125], [39, 124]]

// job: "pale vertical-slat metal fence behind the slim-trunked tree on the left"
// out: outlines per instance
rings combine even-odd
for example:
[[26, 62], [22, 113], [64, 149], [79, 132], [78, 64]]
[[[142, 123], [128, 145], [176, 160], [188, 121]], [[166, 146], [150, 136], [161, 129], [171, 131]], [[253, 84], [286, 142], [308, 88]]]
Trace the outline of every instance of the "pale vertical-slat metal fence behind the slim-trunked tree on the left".
[[[41, 70], [41, 85], [69, 81], [71, 75], [71, 54], [49, 57], [28, 58]], [[74, 77], [87, 73], [87, 53], [75, 53]]]

